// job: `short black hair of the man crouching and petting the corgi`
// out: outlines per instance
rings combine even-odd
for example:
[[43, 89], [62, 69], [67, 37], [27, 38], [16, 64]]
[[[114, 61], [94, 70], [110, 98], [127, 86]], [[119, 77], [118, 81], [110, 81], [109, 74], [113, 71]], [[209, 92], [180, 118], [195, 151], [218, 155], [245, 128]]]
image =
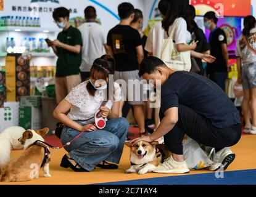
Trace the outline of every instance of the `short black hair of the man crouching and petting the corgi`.
[[141, 65], [139, 66], [139, 76], [142, 76], [145, 73], [154, 73], [155, 68], [159, 66], [167, 67], [167, 65], [165, 65], [160, 58], [154, 56], [146, 57], [144, 60], [142, 60]]

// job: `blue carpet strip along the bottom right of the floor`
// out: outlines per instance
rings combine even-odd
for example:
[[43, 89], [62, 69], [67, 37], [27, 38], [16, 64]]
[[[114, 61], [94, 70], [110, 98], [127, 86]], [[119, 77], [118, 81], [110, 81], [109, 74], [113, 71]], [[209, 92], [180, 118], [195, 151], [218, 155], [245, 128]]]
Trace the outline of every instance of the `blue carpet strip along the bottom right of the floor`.
[[[219, 177], [219, 178], [217, 178]], [[101, 183], [99, 185], [256, 185], [256, 169]]]

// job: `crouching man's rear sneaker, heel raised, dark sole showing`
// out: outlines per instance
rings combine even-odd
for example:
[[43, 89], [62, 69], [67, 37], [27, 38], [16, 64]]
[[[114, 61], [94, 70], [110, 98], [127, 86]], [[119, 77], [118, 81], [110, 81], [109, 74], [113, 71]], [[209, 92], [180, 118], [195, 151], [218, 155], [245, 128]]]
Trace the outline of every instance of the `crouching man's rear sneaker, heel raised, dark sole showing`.
[[223, 148], [218, 153], [212, 155], [213, 164], [207, 169], [209, 171], [218, 171], [222, 169], [225, 171], [228, 166], [234, 161], [236, 155], [230, 150], [230, 148]]

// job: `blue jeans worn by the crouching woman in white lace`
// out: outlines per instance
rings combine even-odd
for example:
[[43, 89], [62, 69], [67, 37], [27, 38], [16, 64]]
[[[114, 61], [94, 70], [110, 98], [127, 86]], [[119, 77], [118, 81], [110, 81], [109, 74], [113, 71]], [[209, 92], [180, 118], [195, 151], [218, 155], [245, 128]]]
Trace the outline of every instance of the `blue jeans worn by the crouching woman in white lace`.
[[[119, 163], [128, 132], [129, 123], [125, 118], [115, 118], [107, 121], [104, 130], [84, 132], [78, 139], [65, 147], [76, 163], [88, 171], [101, 161]], [[65, 144], [70, 142], [79, 131], [64, 127], [60, 139]]]

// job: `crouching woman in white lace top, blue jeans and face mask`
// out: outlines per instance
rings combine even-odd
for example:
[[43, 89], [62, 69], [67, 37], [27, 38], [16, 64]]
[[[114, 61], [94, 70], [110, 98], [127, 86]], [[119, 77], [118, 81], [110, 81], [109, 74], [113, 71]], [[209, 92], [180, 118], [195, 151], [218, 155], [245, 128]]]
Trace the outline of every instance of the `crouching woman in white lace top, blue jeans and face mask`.
[[[116, 164], [123, 152], [129, 123], [125, 118], [119, 118], [121, 89], [119, 84], [109, 82], [111, 74], [114, 74], [114, 60], [107, 55], [97, 58], [91, 67], [89, 80], [73, 88], [54, 110], [54, 118], [65, 125], [60, 136], [64, 144], [89, 126], [65, 147], [68, 154], [62, 158], [61, 167], [70, 167], [77, 172], [93, 171], [96, 166], [118, 168]], [[107, 103], [101, 107], [104, 101]], [[94, 115], [99, 109], [107, 120], [101, 130], [93, 125]]]

